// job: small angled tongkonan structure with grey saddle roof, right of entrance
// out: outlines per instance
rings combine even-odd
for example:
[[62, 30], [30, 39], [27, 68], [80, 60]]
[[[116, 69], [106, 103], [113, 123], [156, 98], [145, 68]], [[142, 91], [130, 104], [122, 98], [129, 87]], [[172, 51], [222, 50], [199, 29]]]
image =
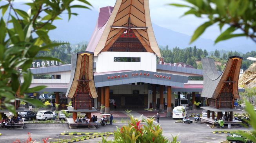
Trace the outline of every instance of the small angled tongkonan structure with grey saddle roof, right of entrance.
[[222, 116], [222, 111], [225, 111], [227, 116], [230, 113], [232, 121], [234, 109], [234, 100], [239, 99], [238, 93], [238, 78], [242, 64], [242, 57], [229, 57], [224, 71], [218, 72], [211, 58], [202, 59], [203, 65], [203, 91], [202, 97], [206, 97], [207, 118], [210, 118], [210, 111], [212, 112], [212, 119], [214, 120], [214, 112], [217, 112], [217, 119]]

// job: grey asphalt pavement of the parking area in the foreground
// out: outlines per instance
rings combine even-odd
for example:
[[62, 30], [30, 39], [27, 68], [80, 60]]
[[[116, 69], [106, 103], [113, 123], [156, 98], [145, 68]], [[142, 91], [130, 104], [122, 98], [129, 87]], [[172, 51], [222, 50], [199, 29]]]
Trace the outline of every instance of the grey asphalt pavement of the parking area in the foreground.
[[[193, 120], [193, 118], [191, 118]], [[61, 141], [63, 139], [76, 138], [74, 136], [64, 136], [60, 135], [62, 132], [113, 132], [116, 130], [116, 127], [122, 127], [126, 123], [113, 123], [113, 125], [99, 126], [98, 129], [91, 128], [79, 128], [79, 129], [69, 129], [65, 124], [26, 124], [25, 129], [0, 129], [0, 143], [12, 143], [16, 139], [25, 141], [27, 138], [27, 132], [32, 134], [32, 139], [36, 140], [35, 143], [43, 143], [42, 139], [49, 138], [49, 141]], [[245, 127], [239, 125], [231, 126], [231, 129], [227, 127], [220, 129], [214, 128], [211, 129], [208, 123], [176, 123], [176, 120], [167, 117], [160, 118], [160, 126], [163, 129], [163, 135], [169, 140], [172, 139], [172, 136], [178, 135], [178, 140], [182, 143], [220, 143], [225, 140], [226, 134], [213, 134], [212, 131], [234, 131], [234, 130], [249, 130]], [[112, 140], [113, 135], [109, 136], [108, 140]], [[86, 141], [80, 142], [89, 142], [95, 143], [102, 141], [101, 138], [89, 139]]]

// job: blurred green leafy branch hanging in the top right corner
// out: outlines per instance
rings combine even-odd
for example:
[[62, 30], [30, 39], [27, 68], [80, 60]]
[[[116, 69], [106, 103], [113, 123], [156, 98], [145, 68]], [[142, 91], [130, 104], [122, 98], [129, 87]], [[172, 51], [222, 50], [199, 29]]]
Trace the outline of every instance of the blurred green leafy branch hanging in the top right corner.
[[[194, 32], [190, 43], [195, 41], [205, 29], [218, 24], [220, 30], [228, 28], [216, 38], [215, 43], [234, 37], [247, 36], [256, 43], [256, 1], [255, 0], [184, 0], [185, 5], [170, 4], [176, 7], [187, 7], [183, 16], [192, 14], [208, 21], [200, 25]], [[239, 31], [238, 31], [239, 29]]]

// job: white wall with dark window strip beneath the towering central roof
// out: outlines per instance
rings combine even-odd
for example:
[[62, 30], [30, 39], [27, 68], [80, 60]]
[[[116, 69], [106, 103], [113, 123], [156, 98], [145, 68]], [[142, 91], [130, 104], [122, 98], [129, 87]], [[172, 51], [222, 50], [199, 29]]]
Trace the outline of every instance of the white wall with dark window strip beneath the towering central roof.
[[[140, 62], [114, 62], [114, 57], [140, 57]], [[97, 73], [120, 70], [156, 71], [156, 55], [149, 52], [102, 52], [94, 61]]]

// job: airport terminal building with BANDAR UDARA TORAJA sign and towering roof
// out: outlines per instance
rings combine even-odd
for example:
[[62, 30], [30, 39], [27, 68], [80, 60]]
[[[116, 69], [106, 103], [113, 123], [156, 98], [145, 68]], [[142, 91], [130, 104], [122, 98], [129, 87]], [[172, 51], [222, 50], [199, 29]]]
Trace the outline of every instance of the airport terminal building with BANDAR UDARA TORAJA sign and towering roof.
[[[97, 109], [104, 105], [105, 113], [151, 107], [163, 112], [166, 102], [167, 116], [170, 116], [172, 105], [179, 105], [180, 98], [187, 99], [189, 105], [197, 101], [205, 106], [205, 98], [201, 97], [203, 80], [189, 80], [190, 77], [202, 77], [202, 70], [183, 63], [166, 64], [157, 60], [161, 59], [161, 54], [151, 24], [148, 0], [117, 0], [114, 7], [100, 8], [86, 50], [94, 53], [94, 84], [98, 97], [92, 104]], [[72, 82], [72, 63], [45, 63], [48, 65], [39, 63], [31, 68], [34, 74], [31, 87], [45, 85], [47, 88], [27, 94], [65, 108], [71, 101], [65, 94]], [[114, 109], [114, 102], [117, 109]]]

